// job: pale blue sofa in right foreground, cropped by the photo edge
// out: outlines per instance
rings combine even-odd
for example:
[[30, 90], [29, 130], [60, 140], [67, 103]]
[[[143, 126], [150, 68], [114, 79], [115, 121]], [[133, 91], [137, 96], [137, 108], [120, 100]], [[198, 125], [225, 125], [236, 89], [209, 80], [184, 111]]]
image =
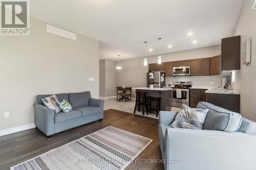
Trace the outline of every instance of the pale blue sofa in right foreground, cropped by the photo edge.
[[[200, 102], [207, 116], [231, 112]], [[177, 112], [160, 111], [159, 144], [165, 170], [256, 169], [256, 123], [242, 118], [237, 132], [171, 128]], [[209, 114], [209, 115], [208, 115]], [[206, 116], [206, 118], [207, 118]]]

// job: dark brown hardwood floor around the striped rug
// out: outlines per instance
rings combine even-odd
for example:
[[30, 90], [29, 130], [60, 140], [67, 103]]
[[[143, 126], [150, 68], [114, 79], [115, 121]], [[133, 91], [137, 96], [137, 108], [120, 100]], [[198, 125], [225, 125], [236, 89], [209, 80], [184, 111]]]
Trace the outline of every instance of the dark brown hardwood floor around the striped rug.
[[[29, 160], [63, 144], [79, 139], [107, 126], [113, 126], [150, 139], [153, 142], [125, 169], [164, 169], [162, 163], [150, 163], [151, 159], [161, 159], [158, 139], [158, 119], [126, 113], [118, 110], [105, 110], [101, 122], [93, 122], [73, 128], [47, 138], [40, 130], [30, 130], [0, 137], [0, 169], [10, 169], [18, 163]], [[140, 163], [146, 159], [148, 163]]]

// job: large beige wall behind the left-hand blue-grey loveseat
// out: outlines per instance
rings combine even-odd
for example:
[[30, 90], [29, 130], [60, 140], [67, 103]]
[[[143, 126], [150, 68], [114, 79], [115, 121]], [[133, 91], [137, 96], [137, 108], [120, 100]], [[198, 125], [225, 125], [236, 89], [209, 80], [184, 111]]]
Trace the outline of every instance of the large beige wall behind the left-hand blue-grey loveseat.
[[99, 96], [99, 42], [47, 33], [47, 23], [34, 18], [30, 26], [30, 36], [0, 37], [0, 130], [34, 123], [37, 94], [89, 90]]

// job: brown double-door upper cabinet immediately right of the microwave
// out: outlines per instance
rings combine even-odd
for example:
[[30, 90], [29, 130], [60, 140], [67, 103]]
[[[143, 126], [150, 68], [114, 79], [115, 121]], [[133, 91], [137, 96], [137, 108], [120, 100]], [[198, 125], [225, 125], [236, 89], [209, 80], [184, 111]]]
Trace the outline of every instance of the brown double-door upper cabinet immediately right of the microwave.
[[191, 76], [209, 76], [210, 58], [191, 60]]

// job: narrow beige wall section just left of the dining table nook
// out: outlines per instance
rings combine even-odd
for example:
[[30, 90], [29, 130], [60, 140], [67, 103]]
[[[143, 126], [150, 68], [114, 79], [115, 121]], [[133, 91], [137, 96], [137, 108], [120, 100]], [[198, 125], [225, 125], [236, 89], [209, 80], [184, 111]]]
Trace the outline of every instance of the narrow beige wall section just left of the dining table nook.
[[100, 60], [100, 96], [116, 95], [116, 61]]

